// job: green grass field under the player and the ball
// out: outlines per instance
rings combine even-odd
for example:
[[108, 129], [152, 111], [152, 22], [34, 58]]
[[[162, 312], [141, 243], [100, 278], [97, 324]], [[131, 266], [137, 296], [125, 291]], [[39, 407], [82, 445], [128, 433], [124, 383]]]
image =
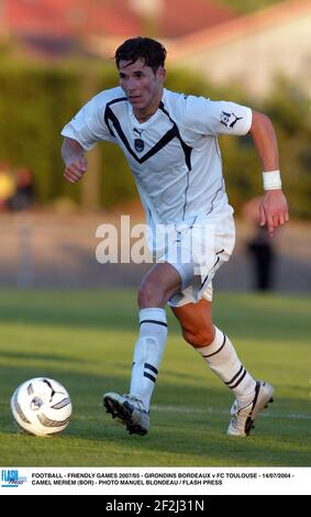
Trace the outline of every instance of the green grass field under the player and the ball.
[[[133, 290], [0, 294], [0, 464], [8, 466], [310, 466], [311, 300], [218, 295], [214, 321], [246, 367], [276, 387], [248, 439], [226, 437], [232, 396], [182, 341], [175, 318], [145, 437], [129, 436], [102, 406], [126, 392], [136, 339]], [[30, 377], [70, 393], [69, 427], [54, 438], [19, 432], [9, 402]]]

